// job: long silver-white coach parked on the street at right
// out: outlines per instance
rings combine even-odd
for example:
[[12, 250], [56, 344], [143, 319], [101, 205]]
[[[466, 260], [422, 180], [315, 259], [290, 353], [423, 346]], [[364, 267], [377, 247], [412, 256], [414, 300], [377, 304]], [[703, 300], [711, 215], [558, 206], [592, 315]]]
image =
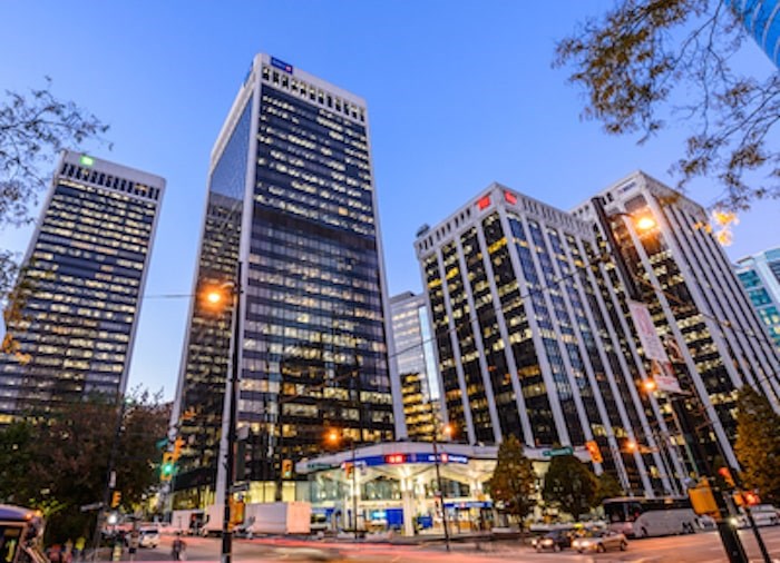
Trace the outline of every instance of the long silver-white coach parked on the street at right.
[[626, 537], [693, 534], [705, 527], [686, 497], [622, 496], [602, 503], [607, 527]]

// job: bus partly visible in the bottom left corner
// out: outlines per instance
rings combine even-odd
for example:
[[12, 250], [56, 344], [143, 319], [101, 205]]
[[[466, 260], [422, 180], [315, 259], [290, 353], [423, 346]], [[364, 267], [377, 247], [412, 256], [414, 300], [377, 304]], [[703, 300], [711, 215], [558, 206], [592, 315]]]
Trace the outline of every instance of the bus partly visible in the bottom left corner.
[[0, 563], [47, 563], [42, 540], [43, 518], [39, 512], [0, 504]]

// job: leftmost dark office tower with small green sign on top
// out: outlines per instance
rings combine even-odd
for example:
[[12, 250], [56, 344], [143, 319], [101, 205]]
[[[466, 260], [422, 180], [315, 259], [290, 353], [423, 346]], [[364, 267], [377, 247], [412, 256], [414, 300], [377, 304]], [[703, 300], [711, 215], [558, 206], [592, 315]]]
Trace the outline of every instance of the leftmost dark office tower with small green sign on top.
[[18, 280], [0, 422], [125, 392], [165, 180], [65, 151]]

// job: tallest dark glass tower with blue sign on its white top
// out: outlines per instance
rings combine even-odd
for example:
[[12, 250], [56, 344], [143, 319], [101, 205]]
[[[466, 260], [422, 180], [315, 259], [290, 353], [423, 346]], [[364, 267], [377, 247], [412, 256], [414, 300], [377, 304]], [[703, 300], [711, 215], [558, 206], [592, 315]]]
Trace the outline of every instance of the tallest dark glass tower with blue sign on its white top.
[[[391, 439], [393, 405], [365, 102], [266, 55], [212, 152], [194, 293], [234, 280], [238, 261], [236, 480], [253, 502], [286, 498], [291, 462], [328, 447], [329, 426], [340, 447]], [[223, 490], [232, 313], [192, 306], [173, 414], [185, 443], [175, 505]]]

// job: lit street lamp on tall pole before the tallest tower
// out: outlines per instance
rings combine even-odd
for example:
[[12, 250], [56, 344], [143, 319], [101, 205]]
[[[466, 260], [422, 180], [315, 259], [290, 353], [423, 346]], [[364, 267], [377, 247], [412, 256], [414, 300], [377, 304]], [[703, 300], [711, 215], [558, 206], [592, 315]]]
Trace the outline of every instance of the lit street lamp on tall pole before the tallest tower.
[[241, 260], [236, 265], [235, 279], [225, 282], [218, 287], [211, 288], [205, 294], [206, 304], [211, 307], [223, 306], [226, 298], [233, 298], [233, 352], [231, 355], [230, 386], [225, 389], [227, 403], [227, 452], [225, 455], [225, 501], [222, 521], [222, 563], [231, 563], [233, 556], [233, 529], [231, 527], [231, 503], [233, 494], [233, 470], [235, 464], [235, 426], [238, 403], [238, 354], [241, 353]]

